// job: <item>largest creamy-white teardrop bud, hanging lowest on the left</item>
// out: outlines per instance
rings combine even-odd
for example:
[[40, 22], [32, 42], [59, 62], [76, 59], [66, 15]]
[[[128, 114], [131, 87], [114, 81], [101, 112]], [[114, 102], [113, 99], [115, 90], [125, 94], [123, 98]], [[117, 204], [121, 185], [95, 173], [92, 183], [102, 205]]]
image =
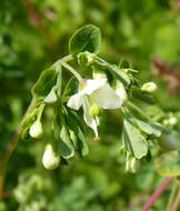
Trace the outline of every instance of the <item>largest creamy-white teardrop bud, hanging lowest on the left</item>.
[[60, 163], [60, 155], [56, 154], [51, 144], [47, 144], [42, 157], [42, 163], [46, 169], [57, 169]]

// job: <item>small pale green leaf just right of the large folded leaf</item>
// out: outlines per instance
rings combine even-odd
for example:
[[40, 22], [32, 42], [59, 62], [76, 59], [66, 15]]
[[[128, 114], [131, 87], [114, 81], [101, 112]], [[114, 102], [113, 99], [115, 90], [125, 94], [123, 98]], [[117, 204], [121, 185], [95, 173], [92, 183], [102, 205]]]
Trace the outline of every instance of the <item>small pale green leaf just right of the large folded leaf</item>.
[[163, 128], [160, 124], [147, 123], [138, 119], [136, 119], [136, 122], [143, 132], [151, 134], [153, 138], [160, 137], [163, 132]]

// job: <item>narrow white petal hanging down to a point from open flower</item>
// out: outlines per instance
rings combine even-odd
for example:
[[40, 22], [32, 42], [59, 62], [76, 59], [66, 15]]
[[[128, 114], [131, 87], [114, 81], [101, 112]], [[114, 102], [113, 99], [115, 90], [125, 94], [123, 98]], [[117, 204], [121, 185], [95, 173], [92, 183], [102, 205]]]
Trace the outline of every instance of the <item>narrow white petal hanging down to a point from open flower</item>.
[[83, 98], [82, 107], [83, 107], [83, 119], [84, 119], [86, 123], [90, 128], [93, 129], [96, 137], [98, 137], [98, 124], [97, 124], [97, 121], [89, 115], [89, 109], [90, 109], [91, 104], [87, 97]]

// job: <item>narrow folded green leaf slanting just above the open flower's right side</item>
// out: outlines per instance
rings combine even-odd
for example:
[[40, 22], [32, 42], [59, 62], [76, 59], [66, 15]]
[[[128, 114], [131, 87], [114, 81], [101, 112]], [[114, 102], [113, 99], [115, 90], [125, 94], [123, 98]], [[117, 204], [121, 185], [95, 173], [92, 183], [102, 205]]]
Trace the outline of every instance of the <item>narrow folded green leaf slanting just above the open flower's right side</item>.
[[127, 86], [127, 87], [130, 86], [131, 81], [130, 81], [128, 74], [126, 74], [122, 70], [120, 70], [120, 69], [118, 68], [118, 66], [108, 64], [107, 68], [108, 68], [108, 70], [110, 70], [111, 73], [112, 73], [113, 76], [116, 76], [117, 79], [119, 79], [124, 86]]

